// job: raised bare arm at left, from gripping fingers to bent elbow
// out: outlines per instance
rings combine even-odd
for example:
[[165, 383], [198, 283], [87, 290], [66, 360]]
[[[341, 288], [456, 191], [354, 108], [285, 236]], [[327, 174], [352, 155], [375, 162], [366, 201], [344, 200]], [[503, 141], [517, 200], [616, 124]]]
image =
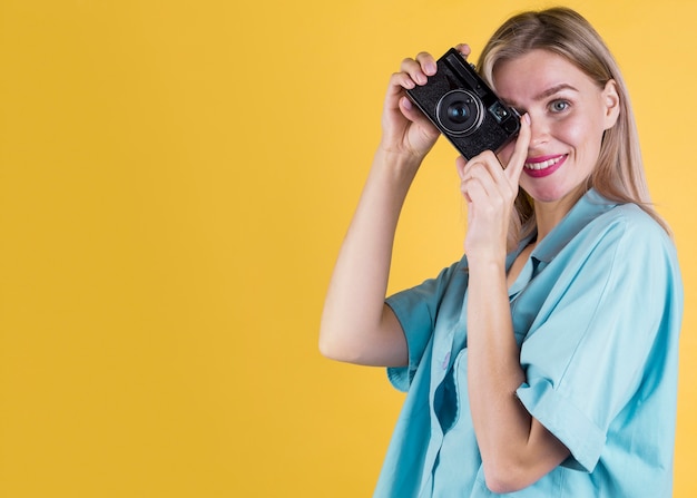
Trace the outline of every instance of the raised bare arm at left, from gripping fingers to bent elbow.
[[385, 294], [397, 219], [419, 166], [439, 137], [405, 89], [425, 85], [435, 60], [422, 52], [392, 75], [383, 135], [332, 275], [320, 331], [327, 358], [396, 367], [408, 361], [406, 341]]

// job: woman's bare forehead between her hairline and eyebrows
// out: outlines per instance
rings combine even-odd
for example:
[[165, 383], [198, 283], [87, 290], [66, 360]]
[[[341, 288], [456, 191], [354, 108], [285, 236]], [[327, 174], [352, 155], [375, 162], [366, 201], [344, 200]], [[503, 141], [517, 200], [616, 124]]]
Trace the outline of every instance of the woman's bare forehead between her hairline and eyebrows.
[[570, 87], [580, 94], [598, 91], [593, 81], [576, 65], [540, 49], [499, 62], [493, 70], [493, 84], [499, 97], [518, 105], [541, 100], [554, 88]]

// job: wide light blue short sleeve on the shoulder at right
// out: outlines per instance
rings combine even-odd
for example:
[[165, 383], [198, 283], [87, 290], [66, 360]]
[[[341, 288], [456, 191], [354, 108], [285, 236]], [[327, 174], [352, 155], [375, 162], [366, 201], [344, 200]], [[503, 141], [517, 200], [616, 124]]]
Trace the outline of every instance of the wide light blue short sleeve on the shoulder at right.
[[607, 226], [579, 251], [582, 261], [550, 264], [575, 270], [560, 272], [521, 346], [520, 401], [569, 448], [573, 459], [566, 465], [589, 472], [650, 355], [665, 361], [660, 343], [675, 332], [675, 310], [681, 313], [675, 247], [641, 215]]

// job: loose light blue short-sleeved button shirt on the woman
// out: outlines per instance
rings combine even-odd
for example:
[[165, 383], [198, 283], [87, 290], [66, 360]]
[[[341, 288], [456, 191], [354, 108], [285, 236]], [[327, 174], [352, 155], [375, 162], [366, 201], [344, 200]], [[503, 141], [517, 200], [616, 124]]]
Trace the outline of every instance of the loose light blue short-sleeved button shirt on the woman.
[[[527, 245], [507, 258], [507, 268]], [[470, 416], [467, 258], [387, 300], [408, 391], [375, 497], [491, 497]], [[665, 231], [588, 192], [509, 290], [527, 410], [570, 450], [509, 497], [664, 498], [673, 490], [683, 286]]]

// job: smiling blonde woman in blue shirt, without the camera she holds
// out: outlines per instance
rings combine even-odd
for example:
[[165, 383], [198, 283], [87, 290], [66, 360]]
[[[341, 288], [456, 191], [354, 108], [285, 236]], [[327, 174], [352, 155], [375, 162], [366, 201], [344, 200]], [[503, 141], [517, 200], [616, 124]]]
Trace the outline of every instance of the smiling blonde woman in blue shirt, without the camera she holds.
[[423, 52], [392, 76], [326, 297], [323, 354], [408, 391], [375, 496], [671, 496], [683, 291], [618, 67], [558, 8], [508, 20], [479, 70], [523, 118], [497, 154], [457, 160], [463, 258], [385, 301], [439, 136], [405, 97], [435, 71]]

